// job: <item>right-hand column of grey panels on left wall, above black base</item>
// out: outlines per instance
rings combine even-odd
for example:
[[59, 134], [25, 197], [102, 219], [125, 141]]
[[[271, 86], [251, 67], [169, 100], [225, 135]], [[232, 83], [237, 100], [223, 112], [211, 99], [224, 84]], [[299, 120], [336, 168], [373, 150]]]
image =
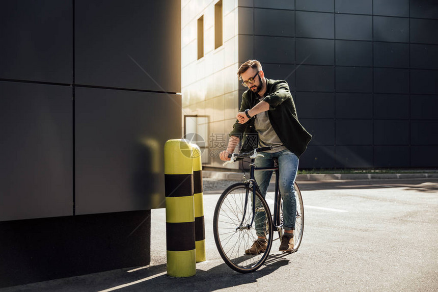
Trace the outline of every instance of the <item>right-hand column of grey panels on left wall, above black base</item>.
[[179, 2], [103, 3], [75, 0], [75, 214], [163, 207], [181, 137]]

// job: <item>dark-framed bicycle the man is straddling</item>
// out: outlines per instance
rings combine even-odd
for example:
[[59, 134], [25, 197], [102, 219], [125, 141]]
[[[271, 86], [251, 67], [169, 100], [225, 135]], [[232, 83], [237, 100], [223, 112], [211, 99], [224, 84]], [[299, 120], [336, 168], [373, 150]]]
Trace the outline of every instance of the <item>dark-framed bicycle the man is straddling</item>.
[[[274, 166], [270, 168], [257, 168], [254, 164], [258, 152], [270, 150], [272, 147], [261, 147], [250, 152], [233, 153], [231, 160], [224, 163], [233, 163], [251, 158], [250, 178], [243, 182], [230, 185], [219, 197], [214, 210], [213, 233], [218, 252], [225, 263], [234, 271], [250, 273], [259, 269], [267, 259], [273, 242], [273, 231], [278, 231], [279, 237], [283, 236], [283, 209], [279, 190], [278, 160], [274, 158]], [[272, 200], [273, 215], [271, 216], [268, 202], [260, 193], [259, 186], [254, 179], [254, 171], [275, 171], [275, 196]], [[298, 184], [295, 182], [296, 223], [294, 230], [294, 250], [298, 250], [304, 231], [304, 205]], [[256, 202], [253, 204], [252, 202]], [[264, 253], [246, 254], [257, 239], [255, 223], [262, 222], [266, 237], [267, 248]], [[260, 226], [260, 225], [258, 225]]]

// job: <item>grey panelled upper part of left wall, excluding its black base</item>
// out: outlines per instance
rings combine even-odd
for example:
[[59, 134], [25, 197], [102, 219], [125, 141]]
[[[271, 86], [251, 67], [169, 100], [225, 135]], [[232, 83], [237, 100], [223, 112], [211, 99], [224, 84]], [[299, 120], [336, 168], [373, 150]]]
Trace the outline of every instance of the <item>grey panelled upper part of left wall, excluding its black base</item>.
[[163, 201], [162, 147], [181, 129], [175, 4], [3, 3], [0, 221]]

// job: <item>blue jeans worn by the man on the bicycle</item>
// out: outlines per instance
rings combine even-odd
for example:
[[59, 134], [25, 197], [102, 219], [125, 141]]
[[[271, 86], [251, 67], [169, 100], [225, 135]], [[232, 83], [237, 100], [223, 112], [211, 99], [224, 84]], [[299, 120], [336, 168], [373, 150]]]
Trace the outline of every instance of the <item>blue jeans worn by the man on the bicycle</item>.
[[[296, 172], [298, 171], [298, 157], [289, 150], [283, 150], [275, 153], [262, 153], [264, 157], [259, 156], [256, 158], [256, 167], [273, 167], [272, 158], [278, 157], [278, 164], [280, 170], [279, 189], [281, 197], [283, 199], [283, 229], [294, 230], [296, 220], [296, 200], [295, 200], [295, 188], [294, 182]], [[261, 195], [266, 196], [266, 190], [269, 186], [269, 181], [272, 177], [272, 171], [260, 171], [254, 172], [255, 179], [259, 185]], [[259, 220], [260, 222], [260, 220]], [[256, 233], [258, 236], [264, 237], [263, 226], [257, 224], [256, 221]]]

